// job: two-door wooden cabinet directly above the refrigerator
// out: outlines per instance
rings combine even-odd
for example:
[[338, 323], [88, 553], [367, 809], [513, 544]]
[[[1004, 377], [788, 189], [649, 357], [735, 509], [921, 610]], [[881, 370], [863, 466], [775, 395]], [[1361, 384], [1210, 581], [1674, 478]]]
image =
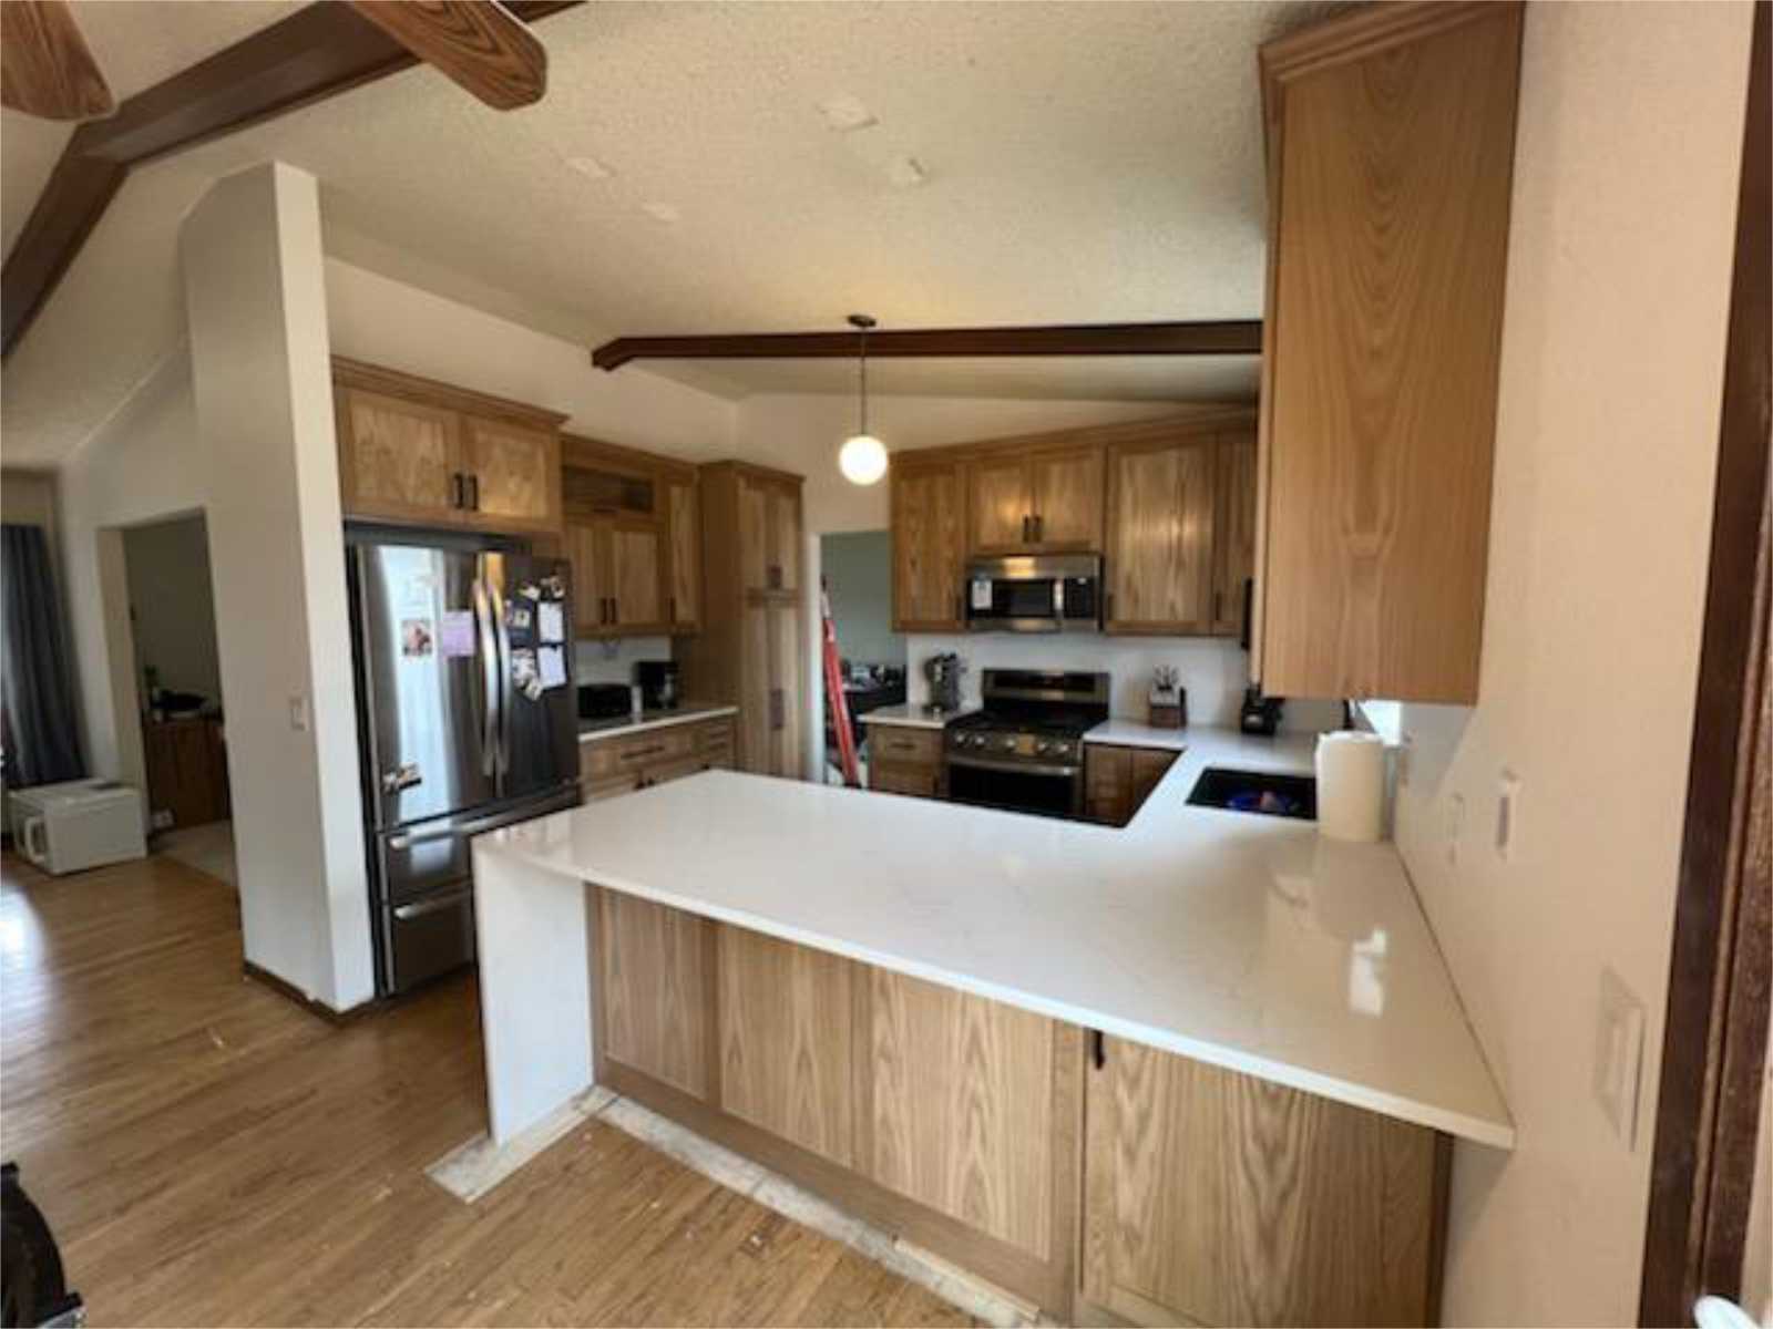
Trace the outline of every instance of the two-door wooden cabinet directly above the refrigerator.
[[346, 517], [560, 530], [564, 415], [342, 356], [333, 409]]

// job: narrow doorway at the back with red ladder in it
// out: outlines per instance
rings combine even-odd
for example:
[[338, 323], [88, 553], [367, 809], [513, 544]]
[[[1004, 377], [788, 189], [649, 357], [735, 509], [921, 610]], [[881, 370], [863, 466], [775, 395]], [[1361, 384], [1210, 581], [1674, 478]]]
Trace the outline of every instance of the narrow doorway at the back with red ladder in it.
[[[867, 727], [862, 716], [904, 702], [904, 638], [892, 626], [892, 537], [883, 530], [819, 537], [819, 571], [832, 601], [832, 627], [844, 670], [844, 700], [867, 785]], [[840, 785], [832, 707], [824, 707], [824, 781]]]

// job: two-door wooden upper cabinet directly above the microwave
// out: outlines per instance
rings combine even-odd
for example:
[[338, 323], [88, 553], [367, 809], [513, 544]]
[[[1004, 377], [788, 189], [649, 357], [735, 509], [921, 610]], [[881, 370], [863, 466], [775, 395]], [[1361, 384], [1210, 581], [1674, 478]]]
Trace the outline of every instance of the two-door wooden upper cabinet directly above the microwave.
[[1094, 443], [998, 445], [968, 466], [970, 548], [979, 555], [1094, 553], [1103, 532], [1103, 452]]

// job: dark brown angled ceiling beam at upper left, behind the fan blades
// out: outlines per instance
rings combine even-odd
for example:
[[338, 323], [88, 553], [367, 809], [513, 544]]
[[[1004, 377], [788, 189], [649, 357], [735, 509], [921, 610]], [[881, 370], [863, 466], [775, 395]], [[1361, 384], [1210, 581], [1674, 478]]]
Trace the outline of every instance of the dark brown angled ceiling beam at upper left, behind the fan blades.
[[[4, 2], [4, 0], [0, 0]], [[525, 23], [578, 0], [511, 0]], [[349, 5], [321, 4], [216, 51], [74, 129], [0, 269], [0, 356], [43, 310], [131, 168], [417, 64]]]

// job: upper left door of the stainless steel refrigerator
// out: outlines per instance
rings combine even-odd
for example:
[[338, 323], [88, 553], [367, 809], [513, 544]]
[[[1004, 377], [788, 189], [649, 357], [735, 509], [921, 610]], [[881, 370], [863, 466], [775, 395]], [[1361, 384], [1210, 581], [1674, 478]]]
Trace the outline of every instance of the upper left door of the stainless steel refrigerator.
[[475, 555], [358, 544], [353, 571], [378, 828], [493, 799]]

